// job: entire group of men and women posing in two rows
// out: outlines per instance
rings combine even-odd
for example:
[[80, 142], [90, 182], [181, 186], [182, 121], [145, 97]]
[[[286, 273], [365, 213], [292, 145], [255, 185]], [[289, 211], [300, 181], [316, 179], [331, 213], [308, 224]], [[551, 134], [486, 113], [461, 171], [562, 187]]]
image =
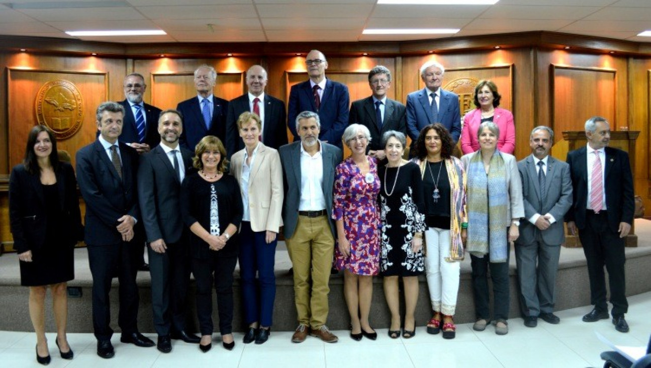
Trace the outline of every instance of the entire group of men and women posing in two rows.
[[[498, 107], [491, 81], [478, 83], [477, 109], [465, 115], [462, 128], [458, 96], [441, 89], [441, 64], [421, 67], [426, 87], [409, 94], [406, 106], [387, 98], [391, 72], [376, 66], [368, 74], [372, 96], [349, 110], [346, 86], [325, 78], [325, 56], [313, 50], [305, 63], [310, 79], [292, 87], [287, 114], [283, 102], [264, 93], [267, 74], [261, 66], [247, 72], [249, 92], [230, 102], [212, 94], [216, 73], [201, 66], [195, 71], [197, 96], [165, 111], [144, 104], [145, 80], [130, 74], [124, 79], [126, 99], [98, 107], [99, 134], [77, 151], [76, 175], [59, 160], [53, 132], [46, 126], [31, 130], [23, 163], [10, 177], [10, 224], [21, 283], [30, 287], [39, 363], [51, 360], [44, 327], [48, 288], [55, 343], [61, 358], [73, 358], [66, 339], [66, 282], [74, 279], [78, 240], [89, 254], [98, 356], [115, 354], [109, 291], [116, 276], [122, 343], [171, 352], [171, 339], [181, 339], [208, 352], [214, 287], [222, 345], [232, 349], [238, 261], [247, 324], [243, 343], [266, 342], [281, 229], [293, 268], [294, 343], [308, 335], [338, 341], [326, 326], [333, 265], [344, 274], [352, 339], [377, 337], [369, 313], [372, 277], [378, 275], [391, 311], [389, 336], [413, 337], [421, 274], [432, 308], [426, 331], [454, 338], [460, 262], [467, 253], [473, 328], [482, 331], [494, 321], [495, 333], [506, 334], [512, 242], [525, 325], [536, 326], [538, 318], [559, 323], [554, 285], [564, 221], [572, 233], [578, 229], [587, 257], [594, 309], [583, 320], [609, 317], [605, 266], [613, 324], [628, 332], [624, 237], [633, 220], [633, 184], [626, 152], [607, 147], [605, 119], [585, 123], [587, 147], [570, 152], [567, 162], [549, 156], [553, 131], [538, 126], [529, 139], [531, 156], [516, 162], [513, 116]], [[286, 126], [294, 143], [287, 143]], [[460, 137], [464, 156], [456, 158]], [[352, 152], [346, 160], [342, 145]], [[86, 204], [85, 227], [77, 182]], [[135, 275], [143, 244], [156, 343], [137, 328]], [[185, 326], [190, 272], [201, 337]]]

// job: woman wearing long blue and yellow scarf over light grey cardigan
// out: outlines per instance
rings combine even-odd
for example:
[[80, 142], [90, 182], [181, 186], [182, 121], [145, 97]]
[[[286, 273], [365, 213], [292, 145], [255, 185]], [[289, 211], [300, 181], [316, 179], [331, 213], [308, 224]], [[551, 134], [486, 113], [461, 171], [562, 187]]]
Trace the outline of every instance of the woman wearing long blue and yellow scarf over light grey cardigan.
[[494, 122], [479, 125], [480, 149], [461, 158], [467, 173], [468, 241], [473, 267], [475, 317], [473, 330], [483, 331], [490, 322], [488, 279], [493, 282], [495, 333], [508, 333], [509, 244], [518, 236], [519, 219], [524, 217], [522, 184], [516, 158], [497, 149], [499, 128]]

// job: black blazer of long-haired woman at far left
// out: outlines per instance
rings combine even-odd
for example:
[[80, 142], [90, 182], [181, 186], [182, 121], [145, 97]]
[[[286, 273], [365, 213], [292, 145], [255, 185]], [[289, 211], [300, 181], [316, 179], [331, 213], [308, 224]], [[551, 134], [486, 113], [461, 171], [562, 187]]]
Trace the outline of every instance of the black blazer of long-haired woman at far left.
[[[77, 240], [83, 239], [77, 180], [67, 162], [62, 162], [55, 174], [64, 216], [61, 235], [65, 244], [74, 246]], [[18, 253], [38, 250], [45, 244], [48, 218], [40, 175], [30, 174], [22, 164], [12, 169], [9, 178], [9, 221]]]

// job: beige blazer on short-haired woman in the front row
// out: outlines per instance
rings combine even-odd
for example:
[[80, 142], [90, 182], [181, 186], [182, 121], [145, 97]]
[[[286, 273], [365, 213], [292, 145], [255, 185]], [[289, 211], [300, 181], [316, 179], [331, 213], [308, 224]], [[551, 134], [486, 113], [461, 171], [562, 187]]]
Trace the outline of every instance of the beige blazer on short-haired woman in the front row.
[[[240, 183], [240, 191], [244, 151], [239, 150], [230, 158], [230, 173]], [[283, 225], [283, 193], [283, 167], [278, 151], [261, 142], [249, 175], [249, 203], [243, 203], [249, 206], [253, 231], [278, 233]]]

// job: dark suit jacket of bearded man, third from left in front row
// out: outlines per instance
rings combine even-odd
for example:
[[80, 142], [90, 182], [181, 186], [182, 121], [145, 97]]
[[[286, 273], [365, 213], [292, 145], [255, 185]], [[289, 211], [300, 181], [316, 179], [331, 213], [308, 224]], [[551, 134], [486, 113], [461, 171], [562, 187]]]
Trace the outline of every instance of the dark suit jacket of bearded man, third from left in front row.
[[[183, 163], [192, 166], [193, 153], [180, 147]], [[181, 240], [185, 225], [181, 216], [181, 182], [163, 147], [140, 156], [138, 167], [138, 201], [143, 215], [146, 241], [163, 239], [165, 243]]]

